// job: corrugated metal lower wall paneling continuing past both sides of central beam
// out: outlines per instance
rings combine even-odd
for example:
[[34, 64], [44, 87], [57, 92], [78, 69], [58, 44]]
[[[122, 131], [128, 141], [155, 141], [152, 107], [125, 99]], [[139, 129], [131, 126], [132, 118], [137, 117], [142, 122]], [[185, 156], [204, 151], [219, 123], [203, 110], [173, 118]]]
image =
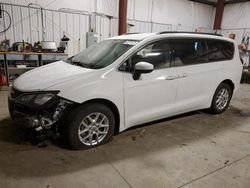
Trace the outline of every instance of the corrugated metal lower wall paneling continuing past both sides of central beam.
[[[34, 42], [42, 41], [42, 18], [39, 7], [23, 5], [3, 4], [3, 9], [11, 15], [11, 28], [0, 35], [0, 40], [5, 38], [13, 42]], [[5, 15], [5, 14], [4, 14]], [[43, 9], [45, 41], [55, 41], [57, 46], [63, 34], [69, 38], [67, 53], [69, 56], [78, 53], [86, 48], [86, 32], [90, 30], [90, 13], [69, 10]], [[5, 15], [3, 23], [0, 23], [0, 30], [9, 24], [8, 16]], [[171, 24], [153, 23], [141, 20], [128, 19], [133, 27], [128, 32], [160, 32], [169, 31]], [[109, 17], [96, 13], [95, 28], [98, 41], [118, 34], [118, 18]]]

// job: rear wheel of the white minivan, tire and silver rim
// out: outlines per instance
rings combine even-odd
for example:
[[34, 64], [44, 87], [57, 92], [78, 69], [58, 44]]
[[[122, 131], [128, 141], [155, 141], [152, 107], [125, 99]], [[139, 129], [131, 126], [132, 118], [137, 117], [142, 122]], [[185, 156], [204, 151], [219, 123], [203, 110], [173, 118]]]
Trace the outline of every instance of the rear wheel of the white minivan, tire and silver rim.
[[211, 107], [209, 108], [209, 112], [212, 114], [223, 113], [228, 108], [228, 105], [230, 104], [232, 94], [233, 94], [232, 88], [227, 83], [221, 83], [217, 87], [214, 93], [212, 104], [211, 104]]

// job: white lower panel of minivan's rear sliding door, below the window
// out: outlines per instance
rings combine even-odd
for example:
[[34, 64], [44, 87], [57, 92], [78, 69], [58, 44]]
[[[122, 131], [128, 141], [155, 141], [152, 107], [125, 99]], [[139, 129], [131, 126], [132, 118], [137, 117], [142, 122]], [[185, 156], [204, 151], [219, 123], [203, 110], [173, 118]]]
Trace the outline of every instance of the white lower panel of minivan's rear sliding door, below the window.
[[206, 108], [211, 104], [211, 96], [217, 88], [218, 63], [205, 63], [177, 67], [178, 93], [177, 112], [187, 112]]

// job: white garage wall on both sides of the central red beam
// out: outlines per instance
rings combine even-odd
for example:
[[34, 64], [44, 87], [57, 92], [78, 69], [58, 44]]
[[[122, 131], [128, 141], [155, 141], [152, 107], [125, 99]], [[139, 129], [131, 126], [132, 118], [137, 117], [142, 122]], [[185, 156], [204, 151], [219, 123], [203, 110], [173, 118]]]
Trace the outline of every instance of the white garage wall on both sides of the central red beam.
[[[42, 40], [41, 11], [28, 8], [37, 3], [44, 8], [45, 40], [59, 45], [63, 33], [71, 39], [68, 54], [86, 48], [86, 32], [90, 30], [90, 15], [97, 13], [95, 27], [98, 41], [118, 34], [119, 0], [2, 0], [12, 16], [12, 26], [0, 40], [11, 39], [34, 43]], [[18, 3], [18, 6], [16, 5]], [[21, 6], [19, 6], [21, 5]], [[143, 6], [142, 6], [143, 5]], [[171, 30], [212, 30], [214, 7], [188, 0], [128, 0], [128, 32], [160, 32]], [[112, 18], [111, 18], [111, 17]], [[6, 25], [8, 20], [6, 20]], [[3, 29], [0, 23], [0, 30]]]

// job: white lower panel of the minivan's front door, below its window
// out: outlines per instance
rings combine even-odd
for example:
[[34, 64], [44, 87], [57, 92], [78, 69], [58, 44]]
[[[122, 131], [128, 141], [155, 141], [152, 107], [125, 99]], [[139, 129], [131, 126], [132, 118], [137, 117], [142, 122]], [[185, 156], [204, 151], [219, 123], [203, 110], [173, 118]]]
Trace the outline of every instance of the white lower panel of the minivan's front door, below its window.
[[145, 123], [175, 113], [177, 79], [175, 68], [154, 70], [142, 74], [135, 81], [130, 73], [124, 73], [124, 104], [126, 126]]

